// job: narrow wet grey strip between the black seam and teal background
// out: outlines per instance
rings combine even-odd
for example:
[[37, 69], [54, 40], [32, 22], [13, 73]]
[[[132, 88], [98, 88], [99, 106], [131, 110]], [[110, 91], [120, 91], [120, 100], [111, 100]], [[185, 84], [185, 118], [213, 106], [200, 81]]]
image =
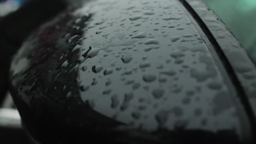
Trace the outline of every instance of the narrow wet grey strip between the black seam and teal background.
[[256, 69], [255, 64], [249, 58], [245, 49], [240, 45], [234, 35], [231, 34], [229, 28], [219, 20], [216, 14], [212, 13], [208, 7], [195, 0], [188, 0], [197, 14], [200, 15], [203, 22], [206, 23], [211, 33], [217, 40], [217, 43], [222, 48], [229, 63], [234, 69], [241, 86], [245, 91], [245, 95], [249, 101], [249, 106], [254, 113], [254, 122], [256, 116]]

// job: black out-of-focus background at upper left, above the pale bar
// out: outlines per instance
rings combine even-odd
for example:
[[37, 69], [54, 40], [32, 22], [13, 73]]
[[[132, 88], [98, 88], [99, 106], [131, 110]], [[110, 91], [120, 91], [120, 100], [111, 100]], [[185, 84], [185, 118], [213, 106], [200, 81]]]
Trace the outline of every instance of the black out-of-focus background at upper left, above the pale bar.
[[[13, 3], [21, 2], [25, 1], [13, 1]], [[3, 4], [7, 3], [9, 1], [3, 2]], [[66, 8], [66, 5], [66, 2], [62, 0], [27, 1], [15, 12], [0, 17], [0, 101], [2, 101], [2, 97], [7, 91], [7, 71], [13, 53], [19, 49], [28, 34], [60, 13], [61, 10]]]

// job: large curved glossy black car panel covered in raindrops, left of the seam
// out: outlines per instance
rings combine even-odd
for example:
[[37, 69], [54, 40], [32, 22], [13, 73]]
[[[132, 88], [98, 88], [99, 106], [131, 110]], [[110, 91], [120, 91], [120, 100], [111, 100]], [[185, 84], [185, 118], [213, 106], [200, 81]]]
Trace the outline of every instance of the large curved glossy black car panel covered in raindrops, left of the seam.
[[251, 141], [232, 77], [197, 22], [174, 0], [84, 1], [57, 16], [11, 64], [26, 129], [40, 143]]

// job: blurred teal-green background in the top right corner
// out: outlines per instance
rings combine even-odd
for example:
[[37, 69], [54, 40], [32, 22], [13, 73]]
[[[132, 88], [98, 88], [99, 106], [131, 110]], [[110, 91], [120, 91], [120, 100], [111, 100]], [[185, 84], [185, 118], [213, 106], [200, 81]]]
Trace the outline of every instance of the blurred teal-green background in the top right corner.
[[203, 0], [256, 62], [256, 0]]

